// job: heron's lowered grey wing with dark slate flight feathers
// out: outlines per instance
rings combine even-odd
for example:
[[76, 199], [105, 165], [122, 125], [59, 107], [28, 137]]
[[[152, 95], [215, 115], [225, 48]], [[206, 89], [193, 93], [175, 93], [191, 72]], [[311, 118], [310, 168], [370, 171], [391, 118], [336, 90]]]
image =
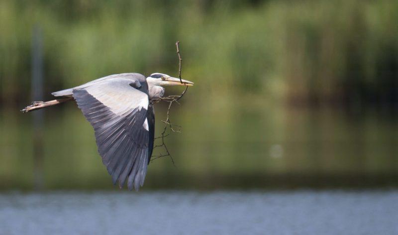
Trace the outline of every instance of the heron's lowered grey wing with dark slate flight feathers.
[[132, 79], [103, 81], [73, 90], [73, 97], [94, 127], [102, 162], [112, 176], [128, 189], [143, 185], [149, 150], [147, 120], [149, 100]]

